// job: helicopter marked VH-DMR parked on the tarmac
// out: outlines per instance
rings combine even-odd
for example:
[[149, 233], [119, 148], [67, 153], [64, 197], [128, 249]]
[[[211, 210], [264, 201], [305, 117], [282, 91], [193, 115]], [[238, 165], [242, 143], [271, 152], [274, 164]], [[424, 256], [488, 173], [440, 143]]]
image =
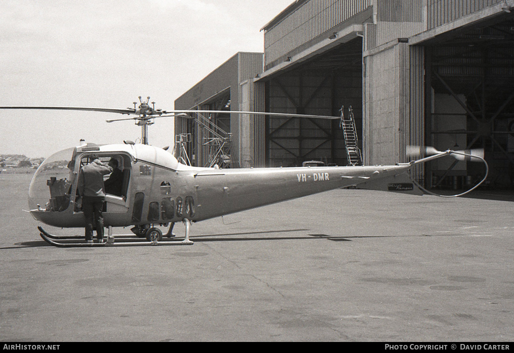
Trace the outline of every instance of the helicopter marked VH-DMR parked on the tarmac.
[[[87, 110], [135, 115], [127, 119], [141, 126], [142, 143], [124, 141], [122, 144], [97, 145], [82, 143], [49, 156], [36, 170], [29, 186], [28, 203], [35, 220], [61, 228], [83, 228], [85, 218], [77, 193], [78, 175], [95, 159], [103, 162], [115, 159], [122, 172], [121, 192], [106, 193], [103, 218], [108, 229], [105, 242], [62, 242], [83, 237], [55, 236], [41, 226], [40, 236], [57, 247], [84, 246], [142, 246], [192, 245], [191, 225], [196, 222], [223, 217], [247, 209], [261, 207], [332, 189], [357, 186], [362, 189], [395, 191], [421, 195], [431, 193], [411, 180], [409, 170], [444, 156], [457, 160], [483, 162], [485, 177], [473, 188], [451, 197], [464, 195], [478, 188], [487, 178], [488, 166], [480, 150], [438, 151], [433, 147], [409, 146], [407, 155], [415, 158], [409, 163], [380, 166], [307, 166], [228, 168], [195, 167], [178, 162], [167, 151], [148, 144], [148, 126], [156, 117], [187, 116], [194, 113], [213, 113], [212, 110], [156, 110], [155, 103], [142, 101], [134, 108], [105, 109], [78, 107], [0, 107], [0, 109]], [[226, 111], [224, 111], [226, 112]], [[282, 114], [269, 112], [230, 113], [262, 114], [319, 119], [341, 119], [336, 116]], [[449, 196], [450, 197], [450, 196]], [[166, 237], [172, 238], [175, 223], [185, 225], [183, 240], [163, 241], [158, 226], [170, 225]], [[133, 227], [137, 237], [147, 241], [115, 242], [113, 227]], [[61, 241], [59, 241], [61, 240]]]

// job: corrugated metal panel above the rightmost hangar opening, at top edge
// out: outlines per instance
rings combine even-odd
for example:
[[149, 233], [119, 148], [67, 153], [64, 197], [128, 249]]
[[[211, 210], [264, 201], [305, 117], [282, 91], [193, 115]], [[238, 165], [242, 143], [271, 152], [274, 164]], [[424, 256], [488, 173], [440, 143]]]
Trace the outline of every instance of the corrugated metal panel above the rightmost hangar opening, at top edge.
[[428, 0], [428, 29], [500, 3], [503, 3], [503, 0]]

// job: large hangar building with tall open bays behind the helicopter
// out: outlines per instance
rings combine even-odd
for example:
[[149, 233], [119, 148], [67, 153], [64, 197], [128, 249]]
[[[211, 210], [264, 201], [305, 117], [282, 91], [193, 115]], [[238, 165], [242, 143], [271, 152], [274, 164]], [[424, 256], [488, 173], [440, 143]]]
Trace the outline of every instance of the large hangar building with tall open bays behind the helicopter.
[[[408, 162], [408, 145], [484, 148], [488, 185], [514, 185], [514, 0], [297, 0], [262, 31], [264, 54], [237, 53], [175, 101], [227, 111], [176, 118], [193, 164], [347, 165], [338, 121], [230, 111], [351, 107], [366, 165]], [[413, 176], [460, 188], [483, 173], [438, 160]]]

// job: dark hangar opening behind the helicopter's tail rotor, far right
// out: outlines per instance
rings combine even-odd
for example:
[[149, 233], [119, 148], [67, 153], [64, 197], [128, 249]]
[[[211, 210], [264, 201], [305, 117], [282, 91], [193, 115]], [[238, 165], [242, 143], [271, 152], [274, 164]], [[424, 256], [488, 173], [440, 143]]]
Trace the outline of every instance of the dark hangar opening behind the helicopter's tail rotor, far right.
[[[427, 144], [439, 150], [483, 148], [491, 189], [514, 187], [514, 20], [505, 14], [426, 47]], [[437, 162], [432, 187], [467, 188], [480, 163]]]

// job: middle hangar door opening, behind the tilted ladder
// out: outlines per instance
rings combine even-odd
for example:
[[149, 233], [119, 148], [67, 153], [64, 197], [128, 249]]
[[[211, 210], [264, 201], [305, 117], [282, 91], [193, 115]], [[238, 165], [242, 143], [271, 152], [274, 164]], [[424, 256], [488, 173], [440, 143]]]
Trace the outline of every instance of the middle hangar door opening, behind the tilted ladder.
[[[266, 111], [340, 116], [353, 109], [362, 149], [362, 39], [279, 72], [266, 82]], [[338, 120], [266, 119], [266, 165], [301, 166], [306, 161], [348, 165]]]

